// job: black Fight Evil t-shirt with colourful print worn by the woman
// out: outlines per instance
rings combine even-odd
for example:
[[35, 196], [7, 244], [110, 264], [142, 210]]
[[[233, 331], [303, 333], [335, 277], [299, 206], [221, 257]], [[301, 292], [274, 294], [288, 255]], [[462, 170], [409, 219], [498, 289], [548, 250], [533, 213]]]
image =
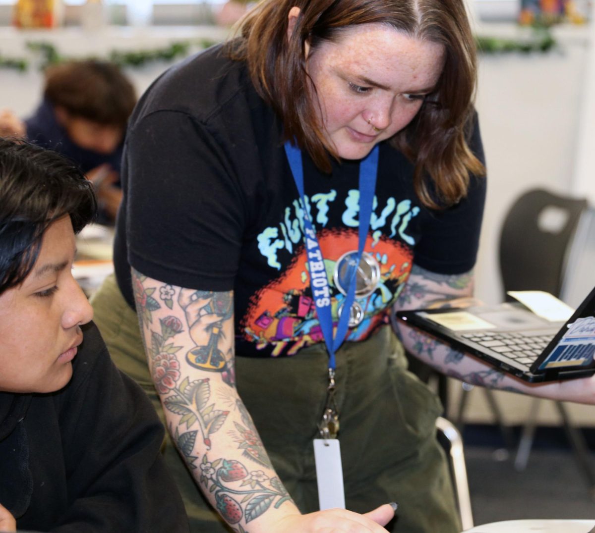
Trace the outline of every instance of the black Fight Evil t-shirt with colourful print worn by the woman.
[[[303, 210], [280, 140], [281, 124], [258, 96], [246, 65], [221, 46], [159, 78], [137, 106], [123, 160], [124, 203], [115, 267], [130, 305], [130, 265], [162, 282], [234, 291], [237, 355], [293, 355], [322, 336], [309, 285]], [[479, 130], [471, 149], [483, 160]], [[333, 272], [358, 247], [359, 162], [322, 174], [303, 154], [306, 203], [318, 235], [337, 317], [343, 294]], [[413, 166], [380, 144], [365, 251], [380, 267], [372, 294], [358, 299], [362, 340], [387, 321], [415, 261], [443, 274], [472, 269], [486, 193], [428, 210], [413, 189]]]

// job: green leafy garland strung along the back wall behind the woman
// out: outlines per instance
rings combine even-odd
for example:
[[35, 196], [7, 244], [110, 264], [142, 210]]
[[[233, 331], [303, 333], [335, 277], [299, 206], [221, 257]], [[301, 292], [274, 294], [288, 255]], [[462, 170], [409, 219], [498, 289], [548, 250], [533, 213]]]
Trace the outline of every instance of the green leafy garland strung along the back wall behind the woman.
[[[136, 52], [122, 52], [113, 50], [108, 53], [108, 61], [112, 61], [120, 67], [142, 67], [151, 62], [171, 62], [177, 58], [188, 55], [190, 46], [198, 45], [200, 48], [208, 48], [216, 43], [215, 40], [201, 39], [198, 41], [182, 41], [172, 43], [165, 48], [152, 50], [141, 50]], [[478, 53], [508, 53], [508, 52], [548, 52], [556, 45], [552, 33], [547, 28], [538, 29], [531, 40], [497, 39], [495, 37], [475, 37]], [[28, 42], [27, 48], [32, 52], [41, 55], [40, 68], [45, 69], [48, 65], [71, 61], [72, 59], [58, 53], [54, 45], [46, 42]], [[99, 59], [99, 58], [83, 58]], [[5, 58], [0, 55], [0, 69], [7, 68], [20, 72], [29, 69], [29, 61], [24, 58]]]

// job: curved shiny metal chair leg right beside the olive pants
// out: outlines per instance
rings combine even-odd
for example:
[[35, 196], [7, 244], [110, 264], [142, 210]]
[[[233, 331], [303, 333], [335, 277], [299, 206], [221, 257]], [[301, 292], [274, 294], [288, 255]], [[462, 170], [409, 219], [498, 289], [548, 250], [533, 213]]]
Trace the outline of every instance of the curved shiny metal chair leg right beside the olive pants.
[[453, 484], [455, 485], [461, 525], [464, 530], [471, 529], [473, 527], [473, 513], [471, 510], [471, 496], [469, 494], [469, 481], [467, 478], [461, 433], [459, 433], [455, 424], [446, 420], [444, 417], [437, 418], [436, 427], [449, 441], [450, 449], [448, 453], [450, 455], [450, 466], [452, 467]]

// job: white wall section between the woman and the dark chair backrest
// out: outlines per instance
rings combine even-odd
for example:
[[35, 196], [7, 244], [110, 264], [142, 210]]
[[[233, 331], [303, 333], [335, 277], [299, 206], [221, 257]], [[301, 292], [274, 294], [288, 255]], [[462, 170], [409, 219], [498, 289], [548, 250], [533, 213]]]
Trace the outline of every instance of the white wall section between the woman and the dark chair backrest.
[[582, 39], [544, 55], [480, 56], [488, 195], [475, 272], [477, 296], [490, 304], [502, 301], [497, 243], [515, 198], [533, 187], [571, 192], [585, 57]]

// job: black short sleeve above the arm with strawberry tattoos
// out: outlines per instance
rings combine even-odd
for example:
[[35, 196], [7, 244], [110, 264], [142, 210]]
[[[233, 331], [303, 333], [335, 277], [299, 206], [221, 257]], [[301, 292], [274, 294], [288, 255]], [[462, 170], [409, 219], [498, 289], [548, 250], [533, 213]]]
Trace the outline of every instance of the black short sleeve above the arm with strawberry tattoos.
[[158, 111], [129, 131], [128, 258], [172, 285], [233, 288], [245, 209], [226, 140], [186, 113]]

